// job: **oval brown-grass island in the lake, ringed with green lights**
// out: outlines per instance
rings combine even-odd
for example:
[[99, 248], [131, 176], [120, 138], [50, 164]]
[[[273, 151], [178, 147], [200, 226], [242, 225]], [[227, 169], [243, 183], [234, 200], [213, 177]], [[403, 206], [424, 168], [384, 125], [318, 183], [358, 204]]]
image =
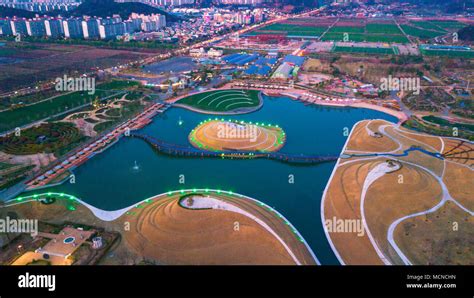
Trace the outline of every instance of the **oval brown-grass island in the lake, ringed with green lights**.
[[277, 126], [238, 121], [209, 120], [189, 134], [194, 147], [211, 150], [273, 152], [285, 143], [285, 133]]

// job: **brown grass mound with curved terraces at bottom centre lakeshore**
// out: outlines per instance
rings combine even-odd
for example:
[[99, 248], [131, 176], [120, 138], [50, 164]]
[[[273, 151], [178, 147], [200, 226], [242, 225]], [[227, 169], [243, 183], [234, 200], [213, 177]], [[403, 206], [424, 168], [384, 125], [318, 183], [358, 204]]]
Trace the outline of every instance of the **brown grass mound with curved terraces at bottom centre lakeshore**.
[[135, 212], [123, 219], [131, 223], [124, 238], [145, 258], [165, 264], [294, 264], [273, 235], [238, 213], [186, 209], [175, 197]]

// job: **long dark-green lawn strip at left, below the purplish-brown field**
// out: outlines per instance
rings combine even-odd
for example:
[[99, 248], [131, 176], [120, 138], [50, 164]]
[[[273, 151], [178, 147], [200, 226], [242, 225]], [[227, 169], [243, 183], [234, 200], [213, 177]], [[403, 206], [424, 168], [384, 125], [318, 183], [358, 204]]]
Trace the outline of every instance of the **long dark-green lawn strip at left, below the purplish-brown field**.
[[138, 83], [129, 81], [111, 81], [98, 85], [95, 94], [89, 95], [87, 91], [78, 91], [37, 104], [20, 107], [0, 113], [0, 131], [6, 131], [15, 127], [38, 121], [72, 108], [79, 107], [92, 102], [96, 98], [103, 98], [116, 94], [126, 88]]

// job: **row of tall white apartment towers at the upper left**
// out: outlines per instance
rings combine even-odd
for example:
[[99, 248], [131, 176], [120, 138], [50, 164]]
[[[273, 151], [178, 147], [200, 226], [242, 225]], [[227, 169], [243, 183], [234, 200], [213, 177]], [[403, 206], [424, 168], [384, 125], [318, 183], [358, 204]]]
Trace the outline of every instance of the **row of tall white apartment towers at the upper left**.
[[117, 36], [143, 31], [156, 31], [166, 26], [164, 15], [132, 13], [128, 20], [114, 15], [108, 18], [38, 17], [0, 19], [0, 35], [50, 38], [114, 39]]

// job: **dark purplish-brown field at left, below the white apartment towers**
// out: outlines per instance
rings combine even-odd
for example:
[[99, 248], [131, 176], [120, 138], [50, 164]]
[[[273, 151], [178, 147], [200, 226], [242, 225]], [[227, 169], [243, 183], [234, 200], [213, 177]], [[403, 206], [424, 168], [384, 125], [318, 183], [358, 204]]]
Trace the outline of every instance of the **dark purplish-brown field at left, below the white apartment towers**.
[[[0, 93], [49, 81], [65, 74], [77, 76], [149, 57], [137, 51], [94, 48], [82, 45], [7, 43], [0, 57], [16, 59], [0, 64]], [[76, 73], [77, 71], [77, 73]]]

